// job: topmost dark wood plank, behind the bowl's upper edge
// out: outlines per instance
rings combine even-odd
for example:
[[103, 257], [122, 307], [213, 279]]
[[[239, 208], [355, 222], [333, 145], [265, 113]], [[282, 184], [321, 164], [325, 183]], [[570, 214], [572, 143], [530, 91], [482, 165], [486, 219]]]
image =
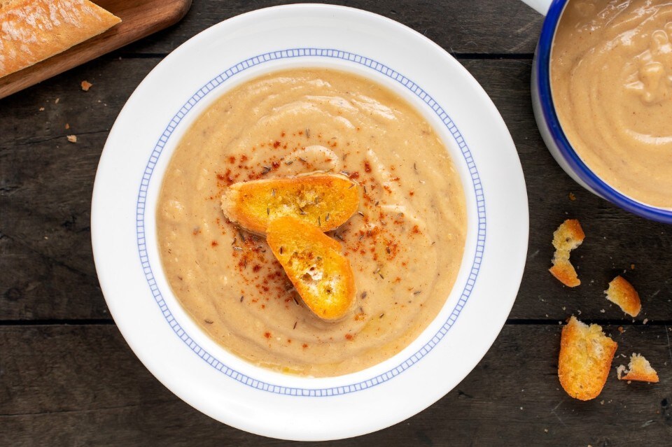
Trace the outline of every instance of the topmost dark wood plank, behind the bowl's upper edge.
[[[120, 50], [166, 54], [195, 34], [236, 15], [293, 0], [198, 0], [175, 27]], [[519, 0], [402, 1], [321, 0], [384, 15], [424, 34], [455, 54], [528, 54], [534, 51], [543, 17]], [[440, 18], [438, 18], [440, 17]]]

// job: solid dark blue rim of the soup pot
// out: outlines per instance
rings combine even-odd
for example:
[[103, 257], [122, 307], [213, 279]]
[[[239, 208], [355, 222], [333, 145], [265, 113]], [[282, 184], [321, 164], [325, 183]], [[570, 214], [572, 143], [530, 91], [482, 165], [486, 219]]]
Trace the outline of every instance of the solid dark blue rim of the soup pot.
[[546, 127], [553, 137], [555, 146], [558, 148], [563, 159], [569, 164], [572, 171], [574, 171], [584, 183], [601, 195], [601, 197], [604, 197], [612, 204], [615, 204], [630, 213], [640, 215], [647, 219], [672, 224], [672, 210], [668, 211], [663, 208], [656, 208], [655, 206], [645, 205], [639, 201], [633, 200], [621, 192], [618, 192], [605, 183], [604, 180], [596, 176], [579, 155], [577, 155], [572, 148], [572, 145], [569, 143], [567, 136], [562, 131], [558, 115], [555, 113], [555, 106], [551, 94], [550, 59], [553, 36], [555, 35], [558, 21], [560, 20], [560, 16], [562, 15], [562, 11], [564, 10], [567, 1], [568, 0], [554, 0], [551, 4], [546, 15], [546, 20], [544, 20], [544, 24], [541, 28], [541, 36], [539, 37], [539, 44], [537, 46], [536, 65], [533, 68], [533, 70], [536, 70], [539, 101]]

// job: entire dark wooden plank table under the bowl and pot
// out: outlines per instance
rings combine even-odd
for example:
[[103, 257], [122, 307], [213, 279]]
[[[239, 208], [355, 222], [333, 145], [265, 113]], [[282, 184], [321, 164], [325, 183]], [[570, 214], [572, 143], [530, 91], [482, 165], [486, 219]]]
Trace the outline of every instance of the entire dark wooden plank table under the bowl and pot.
[[[89, 226], [99, 155], [138, 83], [202, 29], [276, 3], [195, 0], [176, 26], [0, 101], [0, 444], [290, 444], [204, 416], [144, 368], [109, 316]], [[598, 199], [549, 155], [529, 89], [542, 17], [517, 0], [343, 3], [416, 29], [483, 85], [516, 143], [531, 222], [517, 301], [472, 373], [409, 420], [325, 445], [671, 445], [672, 227]], [[93, 84], [89, 92], [82, 80]], [[587, 234], [573, 255], [583, 281], [575, 289], [547, 272], [552, 232], [566, 218]], [[635, 319], [603, 295], [623, 272], [642, 298]], [[568, 397], [556, 371], [560, 324], [570, 315], [614, 337], [615, 365], [643, 353], [661, 382], [627, 384], [612, 369], [597, 399]]]

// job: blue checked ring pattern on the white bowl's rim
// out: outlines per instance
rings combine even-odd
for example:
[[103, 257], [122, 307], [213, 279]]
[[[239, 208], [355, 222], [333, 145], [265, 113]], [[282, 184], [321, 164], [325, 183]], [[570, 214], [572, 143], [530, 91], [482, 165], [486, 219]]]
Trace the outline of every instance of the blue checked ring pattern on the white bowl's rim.
[[[162, 297], [156, 280], [153, 274], [153, 268], [149, 262], [146, 239], [145, 239], [145, 211], [146, 211], [146, 197], [149, 187], [150, 180], [152, 178], [152, 173], [158, 162], [158, 159], [161, 155], [161, 152], [165, 145], [167, 144], [170, 136], [176, 129], [179, 122], [192, 110], [192, 108], [197, 104], [198, 101], [203, 99], [209, 92], [225, 83], [226, 80], [233, 78], [237, 73], [245, 71], [246, 69], [256, 66], [259, 64], [264, 64], [265, 62], [286, 59], [286, 58], [300, 58], [300, 57], [328, 57], [328, 58], [337, 58], [343, 59], [344, 61], [353, 62], [362, 66], [366, 66], [372, 70], [378, 71], [379, 73], [388, 76], [389, 78], [397, 81], [408, 90], [416, 94], [417, 97], [422, 99], [436, 115], [442, 120], [444, 125], [447, 127], [449, 132], [454, 137], [456, 143], [458, 144], [461, 153], [464, 157], [464, 161], [469, 168], [469, 172], [472, 178], [473, 191], [476, 197], [477, 204], [477, 214], [478, 214], [478, 232], [477, 232], [477, 244], [476, 244], [476, 253], [474, 255], [474, 260], [472, 262], [471, 271], [467, 280], [467, 283], [462, 290], [460, 299], [458, 303], [453, 308], [453, 311], [449, 318], [444, 322], [442, 327], [434, 334], [434, 336], [428, 341], [424, 346], [417, 350], [413, 355], [408, 357], [406, 360], [398, 364], [396, 367], [385, 371], [382, 374], [369, 378], [365, 381], [358, 383], [352, 383], [350, 385], [342, 385], [332, 388], [292, 388], [281, 385], [274, 385], [272, 383], [266, 383], [264, 381], [259, 381], [245, 374], [241, 374], [235, 369], [231, 369], [225, 365], [220, 360], [216, 359], [213, 355], [204, 350], [199, 346], [193, 339], [184, 331], [184, 329], [179, 325], [179, 322], [175, 319], [173, 313], [168, 308], [167, 303]], [[402, 76], [397, 71], [394, 71], [387, 66], [380, 64], [379, 62], [369, 59], [368, 57], [363, 57], [360, 55], [353, 54], [351, 52], [344, 52], [340, 50], [333, 50], [328, 48], [291, 48], [287, 50], [279, 50], [274, 52], [267, 52], [262, 55], [251, 57], [242, 62], [239, 62], [235, 66], [232, 66], [230, 69], [224, 71], [216, 78], [210, 80], [206, 85], [201, 87], [192, 97], [180, 108], [180, 110], [173, 116], [172, 120], [168, 123], [165, 131], [162, 136], [158, 139], [154, 150], [152, 151], [151, 156], [145, 167], [144, 175], [142, 176], [140, 182], [140, 190], [138, 194], [137, 201], [137, 243], [138, 250], [140, 255], [140, 261], [142, 263], [142, 268], [144, 274], [147, 278], [149, 288], [152, 292], [152, 295], [158, 304], [160, 311], [165, 317], [166, 321], [172, 327], [173, 332], [179, 336], [179, 338], [191, 349], [196, 355], [201, 357], [204, 362], [207, 362], [211, 367], [221, 371], [222, 374], [229, 376], [230, 378], [248, 385], [252, 388], [258, 390], [263, 390], [267, 392], [273, 392], [281, 395], [290, 395], [290, 396], [312, 396], [312, 397], [325, 397], [325, 396], [336, 396], [344, 395], [350, 392], [356, 392], [360, 390], [365, 390], [367, 388], [374, 387], [380, 383], [384, 383], [391, 378], [398, 376], [403, 371], [412, 367], [421, 360], [425, 355], [427, 355], [436, 345], [441, 341], [448, 330], [452, 327], [454, 322], [456, 322], [458, 315], [460, 315], [464, 305], [471, 295], [471, 291], [474, 288], [476, 283], [476, 278], [478, 276], [478, 271], [481, 266], [483, 250], [485, 247], [485, 229], [486, 229], [486, 220], [485, 220], [485, 198], [483, 194], [483, 189], [481, 186], [481, 180], [478, 176], [478, 171], [476, 165], [471, 156], [471, 152], [467, 147], [462, 135], [458, 131], [456, 125], [449, 118], [447, 113], [429, 96], [424, 90], [422, 90], [418, 85], [413, 83], [411, 80]], [[159, 267], [160, 268], [160, 267]]]

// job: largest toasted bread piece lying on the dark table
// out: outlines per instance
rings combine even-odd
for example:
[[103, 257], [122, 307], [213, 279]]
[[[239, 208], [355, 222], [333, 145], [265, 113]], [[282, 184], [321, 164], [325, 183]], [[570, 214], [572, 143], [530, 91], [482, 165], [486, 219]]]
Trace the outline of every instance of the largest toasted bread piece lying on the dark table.
[[598, 325], [584, 325], [575, 317], [562, 328], [558, 377], [568, 395], [575, 399], [597, 397], [607, 381], [618, 344]]

